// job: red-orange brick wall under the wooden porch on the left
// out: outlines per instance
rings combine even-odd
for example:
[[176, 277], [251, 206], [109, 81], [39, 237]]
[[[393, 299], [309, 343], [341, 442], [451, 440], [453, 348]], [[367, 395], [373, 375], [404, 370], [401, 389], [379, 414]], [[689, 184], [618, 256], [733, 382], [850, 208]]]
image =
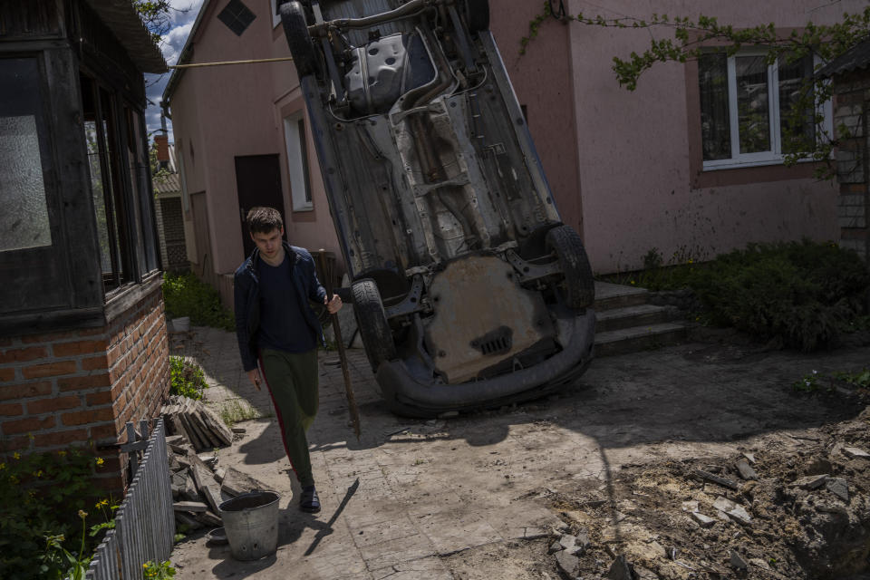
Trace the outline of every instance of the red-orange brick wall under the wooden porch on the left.
[[169, 394], [160, 285], [106, 326], [0, 338], [0, 450], [92, 441], [96, 484], [126, 487], [126, 421], [155, 417]]

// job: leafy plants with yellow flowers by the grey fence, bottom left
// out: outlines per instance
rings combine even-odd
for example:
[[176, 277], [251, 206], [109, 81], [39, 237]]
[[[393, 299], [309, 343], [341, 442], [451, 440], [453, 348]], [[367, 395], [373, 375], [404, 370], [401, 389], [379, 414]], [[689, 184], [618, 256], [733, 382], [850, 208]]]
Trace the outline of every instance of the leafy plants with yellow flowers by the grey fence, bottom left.
[[[90, 559], [100, 537], [85, 534], [104, 516], [94, 504], [90, 450], [0, 456], [0, 578], [64, 578]], [[95, 506], [96, 509], [90, 507]]]

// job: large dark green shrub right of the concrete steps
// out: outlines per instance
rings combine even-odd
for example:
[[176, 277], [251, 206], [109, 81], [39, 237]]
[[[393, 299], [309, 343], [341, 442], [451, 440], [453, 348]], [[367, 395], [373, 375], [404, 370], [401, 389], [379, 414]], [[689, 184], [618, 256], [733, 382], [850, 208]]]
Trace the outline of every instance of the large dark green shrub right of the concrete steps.
[[613, 281], [650, 290], [691, 288], [711, 324], [808, 352], [840, 333], [870, 327], [865, 312], [870, 272], [852, 250], [809, 240], [750, 244], [706, 263], [663, 266], [653, 248], [647, 269]]

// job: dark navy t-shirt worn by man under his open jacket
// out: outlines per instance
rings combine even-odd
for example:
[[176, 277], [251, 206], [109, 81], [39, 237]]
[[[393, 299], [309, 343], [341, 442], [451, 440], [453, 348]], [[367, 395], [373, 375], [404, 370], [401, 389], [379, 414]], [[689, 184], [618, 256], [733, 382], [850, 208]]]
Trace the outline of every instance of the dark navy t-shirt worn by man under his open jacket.
[[[260, 327], [256, 344], [285, 353], [307, 353], [317, 345], [314, 331], [305, 323], [302, 300], [293, 284], [293, 265], [285, 255], [280, 266], [258, 259], [260, 273]], [[307, 304], [305, 304], [307, 305]]]

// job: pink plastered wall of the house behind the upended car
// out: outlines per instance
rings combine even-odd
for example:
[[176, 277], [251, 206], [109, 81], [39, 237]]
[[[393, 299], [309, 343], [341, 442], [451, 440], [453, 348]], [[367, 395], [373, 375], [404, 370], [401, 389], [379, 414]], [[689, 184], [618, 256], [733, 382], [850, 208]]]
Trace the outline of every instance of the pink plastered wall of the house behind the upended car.
[[[256, 19], [242, 36], [217, 21], [227, 0], [210, 0], [190, 62], [288, 56], [283, 31], [273, 25], [268, 0], [250, 0]], [[714, 256], [753, 241], [812, 237], [835, 239], [836, 188], [817, 182], [811, 167], [701, 172], [697, 64], [669, 63], [645, 73], [634, 92], [621, 88], [611, 69], [649, 45], [647, 31], [603, 29], [547, 19], [527, 54], [519, 39], [542, 3], [490, 0], [491, 29], [521, 104], [565, 223], [575, 227], [597, 274], [637, 269], [653, 247], [672, 256]], [[571, 0], [571, 14], [588, 5]], [[646, 9], [644, 10], [644, 6]], [[770, 21], [801, 26], [834, 22], [864, 7], [848, 0], [731, 4], [618, 0], [605, 16], [715, 15], [722, 23]], [[658, 37], [670, 36], [655, 31]], [[304, 110], [292, 63], [188, 70], [173, 95], [177, 140], [182, 143], [190, 192], [205, 191], [215, 271], [230, 274], [244, 258], [234, 157], [279, 155], [285, 222], [292, 243], [335, 252], [314, 142], [308, 132], [311, 211], [291, 211], [283, 119]], [[194, 154], [190, 155], [192, 145]], [[201, 251], [200, 251], [201, 253]], [[197, 261], [191, 256], [191, 260]]]

